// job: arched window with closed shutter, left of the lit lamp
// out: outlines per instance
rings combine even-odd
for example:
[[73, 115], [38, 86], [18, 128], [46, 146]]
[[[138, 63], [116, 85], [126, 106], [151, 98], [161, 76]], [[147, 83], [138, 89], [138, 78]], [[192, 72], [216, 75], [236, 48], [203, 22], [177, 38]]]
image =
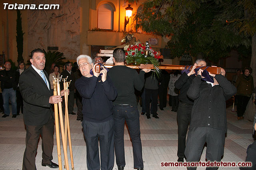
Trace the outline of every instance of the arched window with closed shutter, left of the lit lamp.
[[98, 8], [98, 28], [113, 29], [114, 11], [109, 4], [102, 4]]

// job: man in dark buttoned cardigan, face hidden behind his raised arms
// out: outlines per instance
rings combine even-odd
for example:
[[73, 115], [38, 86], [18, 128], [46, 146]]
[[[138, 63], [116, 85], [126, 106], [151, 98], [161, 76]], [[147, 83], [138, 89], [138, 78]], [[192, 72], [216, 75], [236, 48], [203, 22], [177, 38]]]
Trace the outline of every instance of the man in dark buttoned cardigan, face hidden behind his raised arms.
[[[226, 79], [223, 68], [219, 75], [209, 73], [214, 77], [214, 83], [202, 81], [202, 71], [198, 71], [187, 92], [188, 97], [194, 100], [194, 105], [185, 156], [187, 162], [198, 161], [204, 143], [207, 143], [206, 159], [220, 162], [227, 131], [226, 100], [236, 94], [236, 87]], [[188, 167], [188, 170], [192, 169], [196, 167]], [[218, 167], [211, 169], [217, 170]]]

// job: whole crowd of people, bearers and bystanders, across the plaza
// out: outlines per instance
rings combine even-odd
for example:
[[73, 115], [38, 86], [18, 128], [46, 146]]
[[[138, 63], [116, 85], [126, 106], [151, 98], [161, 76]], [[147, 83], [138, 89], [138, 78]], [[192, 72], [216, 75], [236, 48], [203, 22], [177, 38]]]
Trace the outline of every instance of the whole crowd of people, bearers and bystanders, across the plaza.
[[[205, 143], [206, 159], [221, 160], [227, 132], [226, 100], [236, 94], [238, 120], [242, 120], [248, 102], [252, 99], [251, 102], [255, 103], [255, 98], [251, 98], [256, 93], [254, 80], [250, 76], [252, 68], [246, 67], [243, 72], [239, 71], [230, 82], [225, 77], [224, 68], [221, 68], [218, 75], [197, 68], [207, 65], [204, 59], [196, 60], [191, 70], [183, 70], [182, 74], [178, 71], [170, 74], [162, 70], [160, 77], [154, 76], [150, 69], [137, 72], [125, 66], [124, 60], [125, 51], [120, 48], [113, 52], [114, 66], [110, 69], [104, 67], [101, 57], [96, 57], [93, 61], [88, 55], [80, 55], [74, 67], [72, 63], [66, 62], [61, 73], [59, 66], [54, 63], [48, 72], [44, 70], [46, 59], [41, 49], [31, 52], [31, 65], [27, 69], [24, 62], [19, 62], [18, 69], [14, 71], [11, 63], [5, 61], [4, 68], [0, 68], [3, 106], [0, 109], [4, 111], [2, 117], [8, 117], [10, 99], [12, 117], [15, 118], [20, 111], [23, 114], [26, 125], [23, 170], [36, 169], [35, 156], [40, 135], [42, 166], [58, 168], [58, 164], [52, 162], [54, 115], [51, 106], [62, 102], [65, 92], [63, 85], [61, 96], [54, 96], [52, 91], [52, 80], [61, 76], [70, 82], [67, 90], [68, 114], [76, 114], [73, 112], [76, 100], [77, 120], [82, 121], [86, 139], [88, 170], [112, 170], [114, 154], [118, 170], [124, 170], [125, 121], [132, 141], [134, 168], [143, 170], [138, 99], [142, 99], [141, 115], [146, 114], [147, 119], [150, 116], [159, 119], [158, 106], [160, 110], [164, 110], [167, 93], [169, 106], [172, 106], [172, 111], [177, 112], [177, 161], [184, 162], [184, 158], [187, 162], [200, 160]], [[96, 64], [100, 64], [100, 72], [96, 72]], [[205, 76], [206, 74], [210, 76]], [[254, 142], [248, 147], [246, 158], [254, 167], [255, 149]]]

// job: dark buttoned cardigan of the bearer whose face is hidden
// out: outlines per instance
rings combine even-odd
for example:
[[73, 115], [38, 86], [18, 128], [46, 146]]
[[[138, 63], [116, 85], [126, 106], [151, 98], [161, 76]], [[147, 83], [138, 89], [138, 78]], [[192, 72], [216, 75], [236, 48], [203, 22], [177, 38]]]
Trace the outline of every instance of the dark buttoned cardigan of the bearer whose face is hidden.
[[236, 94], [236, 87], [221, 74], [215, 76], [219, 85], [213, 87], [201, 78], [194, 78], [187, 92], [194, 100], [190, 127], [212, 127], [226, 132], [226, 100]]

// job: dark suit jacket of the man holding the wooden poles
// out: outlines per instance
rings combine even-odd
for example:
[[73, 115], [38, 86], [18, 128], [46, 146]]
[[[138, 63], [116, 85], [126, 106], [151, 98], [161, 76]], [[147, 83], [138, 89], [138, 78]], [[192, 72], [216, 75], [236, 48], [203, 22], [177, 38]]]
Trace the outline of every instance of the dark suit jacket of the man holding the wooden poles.
[[[45, 70], [44, 74], [50, 84], [48, 74]], [[53, 95], [51, 86], [46, 86], [42, 77], [29, 66], [20, 75], [19, 88], [24, 101], [24, 123], [25, 125], [38, 126], [44, 125], [53, 115], [49, 98]], [[53, 117], [53, 116], [52, 116]]]

